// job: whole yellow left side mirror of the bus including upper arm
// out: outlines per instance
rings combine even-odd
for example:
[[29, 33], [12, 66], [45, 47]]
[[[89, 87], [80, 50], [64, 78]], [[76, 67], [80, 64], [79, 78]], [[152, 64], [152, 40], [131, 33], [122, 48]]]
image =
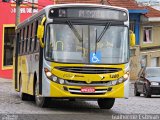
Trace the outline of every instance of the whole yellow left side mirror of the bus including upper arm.
[[44, 43], [42, 41], [43, 36], [44, 36], [44, 22], [46, 21], [46, 17], [43, 17], [41, 24], [38, 25], [38, 29], [37, 29], [37, 38], [39, 39], [40, 42], [40, 46], [42, 48], [44, 48]]

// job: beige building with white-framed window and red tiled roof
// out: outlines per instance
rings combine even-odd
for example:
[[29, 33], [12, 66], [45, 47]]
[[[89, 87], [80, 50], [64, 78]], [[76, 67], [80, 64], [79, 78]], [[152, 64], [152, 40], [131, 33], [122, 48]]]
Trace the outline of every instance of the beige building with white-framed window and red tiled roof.
[[149, 12], [141, 16], [140, 57], [147, 66], [160, 66], [160, 11], [146, 7]]

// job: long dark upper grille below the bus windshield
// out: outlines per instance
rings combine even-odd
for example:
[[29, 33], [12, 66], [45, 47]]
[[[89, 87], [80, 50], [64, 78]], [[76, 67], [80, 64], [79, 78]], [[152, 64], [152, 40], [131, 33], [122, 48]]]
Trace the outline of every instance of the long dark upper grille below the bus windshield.
[[119, 72], [121, 68], [106, 68], [106, 67], [55, 67], [58, 70], [81, 74], [107, 74]]

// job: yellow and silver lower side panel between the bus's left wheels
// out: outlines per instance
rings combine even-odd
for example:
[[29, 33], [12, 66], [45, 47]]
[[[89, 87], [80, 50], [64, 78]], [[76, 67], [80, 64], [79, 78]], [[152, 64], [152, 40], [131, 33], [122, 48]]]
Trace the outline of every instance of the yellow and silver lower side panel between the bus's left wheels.
[[33, 53], [22, 57], [22, 86], [23, 92], [34, 95], [34, 75], [39, 80], [39, 53]]

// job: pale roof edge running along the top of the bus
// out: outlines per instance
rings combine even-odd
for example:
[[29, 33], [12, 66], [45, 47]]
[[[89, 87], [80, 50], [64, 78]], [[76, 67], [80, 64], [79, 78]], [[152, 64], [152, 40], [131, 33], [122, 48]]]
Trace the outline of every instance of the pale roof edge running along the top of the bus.
[[27, 18], [20, 24], [18, 24], [17, 29], [21, 28], [23, 25], [28, 23], [29, 21], [32, 21], [39, 16], [45, 14], [49, 11], [51, 8], [61, 8], [61, 7], [98, 7], [98, 8], [110, 8], [110, 9], [117, 9], [122, 11], [128, 11], [126, 8], [117, 7], [117, 6], [110, 6], [110, 5], [100, 5], [100, 4], [81, 4], [81, 3], [74, 3], [74, 4], [56, 4], [56, 5], [48, 5], [44, 7], [42, 10], [40, 10], [38, 13], [32, 15], [31, 17]]

